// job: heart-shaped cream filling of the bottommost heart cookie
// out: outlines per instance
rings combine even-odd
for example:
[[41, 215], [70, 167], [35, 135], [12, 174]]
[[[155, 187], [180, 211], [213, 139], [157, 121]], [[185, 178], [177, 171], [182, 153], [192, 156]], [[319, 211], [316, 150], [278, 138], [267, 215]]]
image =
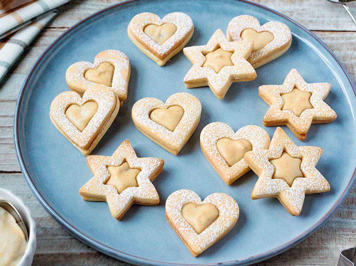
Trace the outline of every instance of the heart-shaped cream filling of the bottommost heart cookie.
[[219, 210], [210, 203], [188, 202], [182, 207], [182, 216], [199, 235], [219, 217]]

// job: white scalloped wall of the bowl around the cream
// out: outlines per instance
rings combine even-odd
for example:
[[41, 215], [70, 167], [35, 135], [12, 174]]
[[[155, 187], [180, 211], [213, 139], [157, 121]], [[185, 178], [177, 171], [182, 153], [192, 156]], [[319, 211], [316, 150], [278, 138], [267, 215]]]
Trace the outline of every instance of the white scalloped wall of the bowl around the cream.
[[31, 211], [26, 207], [21, 198], [15, 196], [10, 190], [5, 188], [0, 187], [0, 199], [5, 199], [15, 206], [21, 214], [29, 234], [25, 254], [23, 254], [22, 259], [16, 266], [31, 265], [36, 250], [36, 224], [31, 217]]

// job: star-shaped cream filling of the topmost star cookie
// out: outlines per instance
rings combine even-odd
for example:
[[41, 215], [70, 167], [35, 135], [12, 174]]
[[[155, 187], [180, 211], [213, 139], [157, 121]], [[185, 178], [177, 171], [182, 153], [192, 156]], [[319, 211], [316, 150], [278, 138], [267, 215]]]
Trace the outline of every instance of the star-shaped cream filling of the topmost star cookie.
[[215, 73], [219, 73], [224, 66], [234, 65], [231, 61], [231, 55], [231, 52], [218, 48], [214, 52], [205, 54], [206, 59], [203, 67], [211, 67]]

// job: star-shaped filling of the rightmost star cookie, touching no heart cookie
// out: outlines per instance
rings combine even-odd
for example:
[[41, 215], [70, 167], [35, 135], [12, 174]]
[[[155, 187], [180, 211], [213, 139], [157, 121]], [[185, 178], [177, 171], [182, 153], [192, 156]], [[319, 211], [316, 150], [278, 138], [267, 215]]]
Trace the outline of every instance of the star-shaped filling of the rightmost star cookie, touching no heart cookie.
[[298, 90], [296, 87], [291, 92], [281, 95], [284, 101], [282, 110], [291, 110], [296, 116], [300, 116], [304, 110], [312, 109], [310, 104], [310, 96], [312, 94], [307, 91]]

